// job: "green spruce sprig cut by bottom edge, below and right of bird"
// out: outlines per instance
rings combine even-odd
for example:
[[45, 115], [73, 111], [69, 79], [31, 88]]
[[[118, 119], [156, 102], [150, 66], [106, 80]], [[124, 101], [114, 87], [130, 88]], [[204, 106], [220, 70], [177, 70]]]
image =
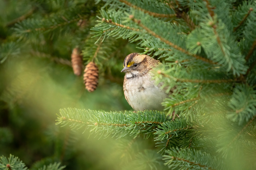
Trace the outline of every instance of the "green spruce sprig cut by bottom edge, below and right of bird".
[[195, 149], [175, 149], [167, 150], [168, 155], [163, 155], [165, 165], [176, 170], [222, 170], [223, 162], [209, 153], [202, 153]]

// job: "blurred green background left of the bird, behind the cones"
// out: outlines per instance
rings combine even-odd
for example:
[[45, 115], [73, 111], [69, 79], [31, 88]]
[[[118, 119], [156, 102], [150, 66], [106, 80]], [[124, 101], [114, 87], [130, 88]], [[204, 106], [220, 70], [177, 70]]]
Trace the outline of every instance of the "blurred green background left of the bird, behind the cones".
[[[85, 12], [86, 28], [74, 23], [64, 27], [69, 29], [64, 33], [54, 30], [26, 37], [14, 29], [22, 16], [47, 19], [58, 11], [65, 13], [69, 5], [94, 10], [89, 15]], [[91, 41], [88, 34], [97, 14], [94, 1], [0, 0], [0, 155], [18, 156], [31, 170], [55, 161], [67, 170], [113, 170], [121, 166], [123, 158], [132, 157], [135, 151], [122, 146], [130, 140], [98, 139], [85, 129], [80, 129], [82, 134], [55, 125], [60, 108], [131, 110], [123, 96], [120, 70], [125, 56], [139, 51], [135, 44], [116, 42], [122, 47], [112, 50], [111, 58], [99, 65], [99, 84], [92, 93], [71, 68], [72, 50], [83, 49]], [[142, 150], [153, 147], [137, 144]]]

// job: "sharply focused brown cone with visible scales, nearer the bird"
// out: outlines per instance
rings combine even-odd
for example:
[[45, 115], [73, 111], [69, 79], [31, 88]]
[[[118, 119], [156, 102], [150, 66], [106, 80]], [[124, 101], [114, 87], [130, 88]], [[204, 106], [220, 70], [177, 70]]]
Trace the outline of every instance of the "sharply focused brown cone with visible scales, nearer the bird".
[[92, 92], [98, 86], [98, 67], [94, 62], [90, 62], [84, 69], [83, 83], [85, 88]]

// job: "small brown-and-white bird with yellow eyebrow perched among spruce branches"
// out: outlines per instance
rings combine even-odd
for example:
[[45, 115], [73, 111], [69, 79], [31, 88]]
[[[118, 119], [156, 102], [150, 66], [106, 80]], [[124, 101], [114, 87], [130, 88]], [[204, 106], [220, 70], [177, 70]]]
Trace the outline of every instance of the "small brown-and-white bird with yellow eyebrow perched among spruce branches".
[[168, 94], [152, 80], [152, 69], [158, 64], [158, 60], [138, 53], [131, 53], [124, 59], [121, 70], [125, 72], [124, 96], [135, 111], [163, 110], [161, 102], [168, 98]]

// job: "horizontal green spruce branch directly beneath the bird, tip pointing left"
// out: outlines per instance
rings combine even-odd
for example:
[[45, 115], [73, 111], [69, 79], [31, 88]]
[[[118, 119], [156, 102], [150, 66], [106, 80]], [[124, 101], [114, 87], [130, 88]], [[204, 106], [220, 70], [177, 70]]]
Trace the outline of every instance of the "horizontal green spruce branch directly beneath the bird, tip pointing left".
[[91, 133], [101, 136], [137, 136], [144, 133], [153, 135], [158, 124], [170, 121], [169, 117], [158, 111], [143, 112], [100, 112], [91, 110], [80, 110], [76, 108], [60, 109], [56, 124], [69, 125], [72, 129], [91, 128]]

